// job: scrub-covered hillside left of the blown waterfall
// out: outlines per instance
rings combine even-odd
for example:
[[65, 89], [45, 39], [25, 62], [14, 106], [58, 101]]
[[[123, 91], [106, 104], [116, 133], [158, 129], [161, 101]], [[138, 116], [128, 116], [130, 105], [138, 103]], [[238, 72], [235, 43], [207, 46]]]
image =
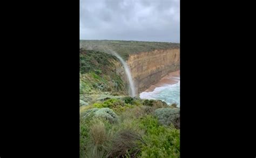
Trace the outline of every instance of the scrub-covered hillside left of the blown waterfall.
[[111, 54], [80, 49], [80, 106], [96, 102], [100, 97], [127, 94], [117, 65], [122, 67]]

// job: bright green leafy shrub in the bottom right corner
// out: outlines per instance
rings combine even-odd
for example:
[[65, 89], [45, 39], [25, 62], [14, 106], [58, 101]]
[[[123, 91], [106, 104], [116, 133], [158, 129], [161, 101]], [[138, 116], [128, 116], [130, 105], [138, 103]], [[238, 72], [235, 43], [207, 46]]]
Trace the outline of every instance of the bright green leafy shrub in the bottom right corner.
[[141, 157], [179, 157], [179, 130], [174, 127], [161, 126], [156, 118], [146, 116], [139, 123], [145, 129], [145, 143], [139, 143]]

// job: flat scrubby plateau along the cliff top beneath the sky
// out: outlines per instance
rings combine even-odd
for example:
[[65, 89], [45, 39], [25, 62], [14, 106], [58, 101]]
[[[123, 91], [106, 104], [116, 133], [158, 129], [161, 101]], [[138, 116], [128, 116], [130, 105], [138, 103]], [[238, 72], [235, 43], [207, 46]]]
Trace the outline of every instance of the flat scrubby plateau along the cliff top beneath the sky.
[[179, 43], [139, 42], [126, 40], [80, 40], [80, 48], [108, 52], [116, 51], [125, 60], [131, 53], [179, 48]]

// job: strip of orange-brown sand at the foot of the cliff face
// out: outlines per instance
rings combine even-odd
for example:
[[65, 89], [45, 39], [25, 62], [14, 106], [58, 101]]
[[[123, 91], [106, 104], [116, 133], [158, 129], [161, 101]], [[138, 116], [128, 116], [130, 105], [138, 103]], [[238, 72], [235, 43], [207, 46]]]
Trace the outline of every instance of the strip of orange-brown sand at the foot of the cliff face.
[[175, 72], [171, 72], [171, 73], [167, 74], [165, 77], [161, 78], [161, 80], [157, 84], [150, 86], [150, 88], [147, 89], [145, 92], [152, 92], [152, 91], [154, 91], [154, 88], [161, 87], [163, 85], [176, 84], [179, 81], [179, 79], [177, 79], [179, 77], [180, 77], [179, 70], [175, 71]]

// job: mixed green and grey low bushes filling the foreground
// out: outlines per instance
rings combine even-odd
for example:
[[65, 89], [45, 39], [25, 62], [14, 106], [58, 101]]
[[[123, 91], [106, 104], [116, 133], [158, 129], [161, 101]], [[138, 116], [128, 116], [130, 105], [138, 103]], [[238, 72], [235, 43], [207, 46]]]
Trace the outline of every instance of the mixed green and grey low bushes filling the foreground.
[[[120, 99], [104, 102], [98, 103], [100, 108], [82, 106], [93, 108], [80, 113], [80, 157], [179, 157], [179, 129], [173, 123], [163, 123], [172, 122], [167, 115], [179, 114], [179, 109], [153, 112], [156, 105], [131, 106]], [[119, 116], [108, 108], [120, 104], [131, 108]], [[159, 118], [160, 113], [164, 119]]]

